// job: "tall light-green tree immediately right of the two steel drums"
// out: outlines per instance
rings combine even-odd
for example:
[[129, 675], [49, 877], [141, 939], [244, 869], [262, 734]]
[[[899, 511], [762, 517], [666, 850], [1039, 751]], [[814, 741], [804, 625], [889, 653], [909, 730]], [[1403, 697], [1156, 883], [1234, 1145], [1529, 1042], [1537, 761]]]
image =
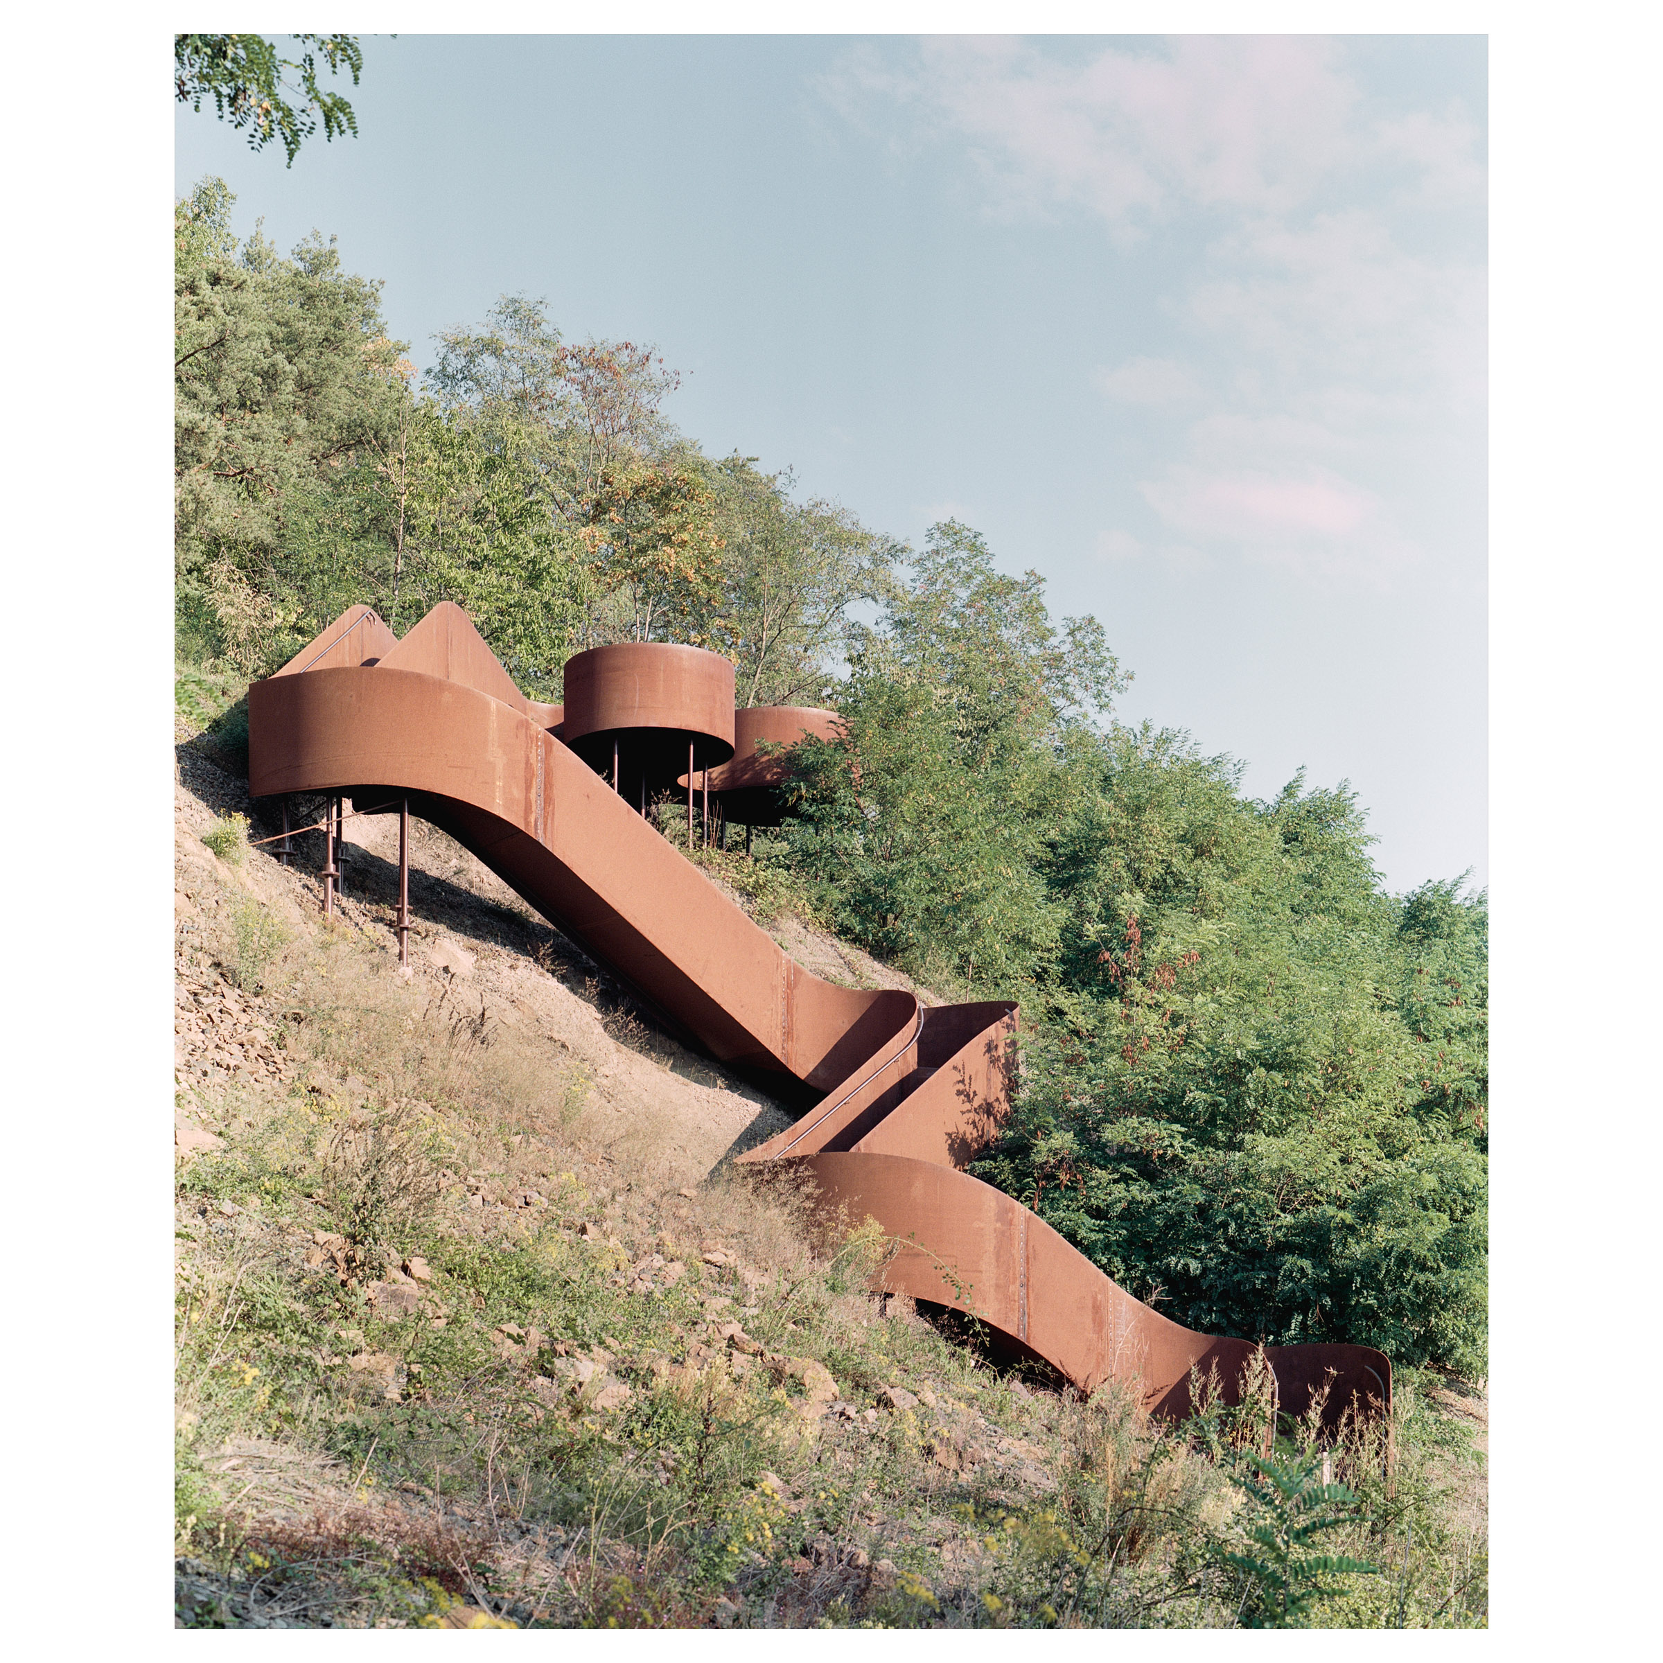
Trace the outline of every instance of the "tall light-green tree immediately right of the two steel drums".
[[783, 858], [880, 955], [989, 993], [1029, 981], [1063, 918], [1043, 875], [1054, 745], [1118, 685], [1096, 620], [1054, 629], [1038, 574], [931, 527], [881, 625], [851, 632], [848, 743], [805, 747]]

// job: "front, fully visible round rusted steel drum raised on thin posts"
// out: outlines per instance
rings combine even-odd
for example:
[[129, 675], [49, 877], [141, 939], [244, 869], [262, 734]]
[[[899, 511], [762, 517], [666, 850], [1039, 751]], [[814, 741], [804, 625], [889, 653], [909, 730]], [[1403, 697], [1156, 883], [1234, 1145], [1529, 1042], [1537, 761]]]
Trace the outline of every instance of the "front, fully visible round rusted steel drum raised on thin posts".
[[657, 792], [693, 768], [733, 755], [733, 665], [702, 647], [620, 642], [565, 660], [560, 738], [610, 777], [614, 745], [620, 790]]

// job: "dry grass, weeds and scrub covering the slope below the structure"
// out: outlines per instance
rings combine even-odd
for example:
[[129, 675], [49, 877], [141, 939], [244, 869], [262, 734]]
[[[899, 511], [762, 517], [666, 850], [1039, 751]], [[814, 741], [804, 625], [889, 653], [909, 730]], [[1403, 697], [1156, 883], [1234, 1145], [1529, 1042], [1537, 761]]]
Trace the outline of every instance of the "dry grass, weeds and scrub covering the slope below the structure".
[[800, 1197], [683, 1196], [650, 1141], [625, 1179], [540, 1056], [457, 1044], [364, 941], [319, 925], [281, 976], [299, 1083], [211, 1096], [180, 1181], [183, 1621], [1482, 1620], [1412, 1370], [1390, 1487], [1374, 1427], [1266, 1455], [1264, 1392], [1081, 1404], [873, 1302], [870, 1227], [817, 1257]]

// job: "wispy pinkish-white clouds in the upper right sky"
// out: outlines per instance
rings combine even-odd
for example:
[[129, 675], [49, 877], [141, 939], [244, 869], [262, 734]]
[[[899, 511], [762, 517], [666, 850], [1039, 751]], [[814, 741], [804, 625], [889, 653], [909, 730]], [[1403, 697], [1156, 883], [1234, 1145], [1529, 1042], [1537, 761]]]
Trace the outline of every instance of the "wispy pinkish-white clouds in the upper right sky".
[[886, 111], [893, 135], [900, 111], [908, 141], [961, 146], [986, 213], [1084, 213], [1123, 256], [1197, 249], [1162, 349], [1093, 374], [1157, 454], [1136, 481], [1156, 524], [1104, 534], [1106, 559], [1176, 535], [1186, 559], [1390, 580], [1427, 552], [1402, 529], [1427, 459], [1462, 444], [1482, 467], [1482, 131], [1365, 93], [1357, 50], [935, 40], [855, 52], [827, 88], [851, 120]]

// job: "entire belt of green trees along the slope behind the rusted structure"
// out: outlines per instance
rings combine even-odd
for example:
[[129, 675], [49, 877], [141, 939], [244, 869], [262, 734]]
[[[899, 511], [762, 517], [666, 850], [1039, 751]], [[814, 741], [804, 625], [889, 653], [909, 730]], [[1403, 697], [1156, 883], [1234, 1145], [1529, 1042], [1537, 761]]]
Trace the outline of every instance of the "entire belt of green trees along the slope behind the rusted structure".
[[1344, 787], [1252, 802], [1118, 723], [1101, 625], [968, 526], [913, 550], [707, 457], [650, 349], [504, 296], [417, 384], [378, 284], [229, 208], [206, 180], [175, 215], [186, 655], [266, 674], [354, 600], [404, 630], [449, 599], [539, 697], [572, 650], [680, 640], [742, 703], [833, 702], [757, 856], [943, 991], [1023, 1001], [976, 1171], [1187, 1325], [1483, 1369], [1482, 895], [1392, 896]]

